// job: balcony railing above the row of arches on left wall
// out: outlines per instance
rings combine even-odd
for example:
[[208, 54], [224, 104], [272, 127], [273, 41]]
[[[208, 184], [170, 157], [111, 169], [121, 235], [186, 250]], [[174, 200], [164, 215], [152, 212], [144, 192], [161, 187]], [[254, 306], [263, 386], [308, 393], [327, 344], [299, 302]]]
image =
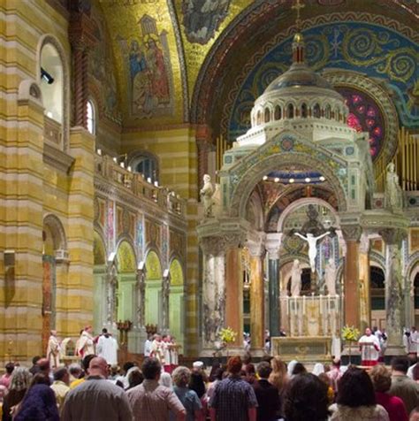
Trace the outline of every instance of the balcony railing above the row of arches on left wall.
[[116, 158], [95, 154], [95, 175], [118, 184], [133, 195], [156, 203], [164, 211], [185, 217], [185, 200], [168, 188], [158, 186], [144, 179], [123, 163], [115, 162]]

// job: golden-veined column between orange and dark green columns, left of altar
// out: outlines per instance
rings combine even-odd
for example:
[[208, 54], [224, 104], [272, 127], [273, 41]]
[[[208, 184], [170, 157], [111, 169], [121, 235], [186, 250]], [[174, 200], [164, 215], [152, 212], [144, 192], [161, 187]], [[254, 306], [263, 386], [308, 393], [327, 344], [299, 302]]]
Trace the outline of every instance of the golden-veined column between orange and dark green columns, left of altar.
[[253, 354], [264, 348], [264, 286], [262, 244], [249, 244], [250, 255], [250, 348]]

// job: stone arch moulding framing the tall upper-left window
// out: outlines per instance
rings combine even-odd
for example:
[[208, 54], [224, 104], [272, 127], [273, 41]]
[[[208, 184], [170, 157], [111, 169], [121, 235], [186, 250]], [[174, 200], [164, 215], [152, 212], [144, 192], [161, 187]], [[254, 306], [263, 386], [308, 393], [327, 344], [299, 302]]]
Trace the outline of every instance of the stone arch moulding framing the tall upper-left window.
[[45, 45], [52, 45], [57, 50], [58, 57], [63, 66], [63, 144], [65, 151], [68, 150], [68, 139], [70, 135], [70, 66], [67, 60], [67, 54], [61, 42], [53, 34], [43, 34], [36, 49], [36, 80], [41, 80], [41, 54]]

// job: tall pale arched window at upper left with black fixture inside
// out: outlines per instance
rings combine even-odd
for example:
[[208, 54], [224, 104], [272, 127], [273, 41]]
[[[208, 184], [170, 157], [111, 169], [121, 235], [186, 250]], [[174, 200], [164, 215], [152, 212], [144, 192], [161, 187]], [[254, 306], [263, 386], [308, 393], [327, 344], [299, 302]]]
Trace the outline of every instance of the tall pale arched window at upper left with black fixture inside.
[[47, 42], [41, 51], [40, 86], [44, 113], [49, 119], [63, 123], [64, 69], [54, 45]]

